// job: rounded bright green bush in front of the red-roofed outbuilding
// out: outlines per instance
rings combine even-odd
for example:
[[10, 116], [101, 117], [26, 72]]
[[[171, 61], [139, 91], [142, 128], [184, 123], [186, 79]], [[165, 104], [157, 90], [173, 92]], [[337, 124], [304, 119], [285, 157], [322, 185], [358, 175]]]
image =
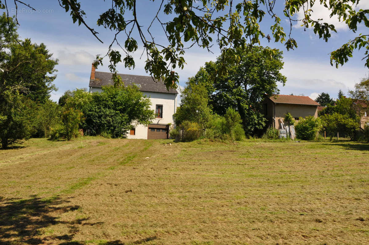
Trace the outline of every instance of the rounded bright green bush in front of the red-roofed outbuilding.
[[320, 118], [308, 116], [299, 118], [299, 122], [295, 126], [296, 137], [304, 140], [313, 140], [317, 137], [317, 132], [321, 129], [322, 124]]

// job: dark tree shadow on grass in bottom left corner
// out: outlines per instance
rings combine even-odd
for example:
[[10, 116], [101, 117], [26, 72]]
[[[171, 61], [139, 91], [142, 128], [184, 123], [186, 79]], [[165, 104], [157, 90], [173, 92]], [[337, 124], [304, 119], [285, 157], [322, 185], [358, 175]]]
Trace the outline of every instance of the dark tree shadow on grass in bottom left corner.
[[[76, 205], [68, 205], [68, 203], [70, 203], [69, 200], [63, 200], [59, 196], [49, 199], [37, 197], [3, 199], [0, 197], [0, 244], [44, 244], [50, 242], [55, 244], [63, 241], [65, 244], [78, 244], [72, 242], [73, 237], [79, 231], [78, 225], [85, 224], [84, 221], [88, 218], [59, 221], [58, 218], [61, 214], [80, 208]], [[56, 224], [67, 225], [68, 234], [43, 237], [47, 228]], [[87, 224], [94, 225], [93, 223]]]

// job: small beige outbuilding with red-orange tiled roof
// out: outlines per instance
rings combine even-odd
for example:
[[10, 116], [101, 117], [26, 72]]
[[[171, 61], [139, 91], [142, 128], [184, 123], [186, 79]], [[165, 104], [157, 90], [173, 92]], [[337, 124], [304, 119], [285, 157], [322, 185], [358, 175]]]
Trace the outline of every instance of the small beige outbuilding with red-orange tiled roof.
[[289, 112], [295, 120], [299, 117], [314, 116], [318, 117], [319, 103], [310, 99], [308, 96], [294, 96], [277, 94], [266, 96], [263, 100], [263, 111], [269, 124], [276, 129], [282, 128], [281, 122], [284, 115]]

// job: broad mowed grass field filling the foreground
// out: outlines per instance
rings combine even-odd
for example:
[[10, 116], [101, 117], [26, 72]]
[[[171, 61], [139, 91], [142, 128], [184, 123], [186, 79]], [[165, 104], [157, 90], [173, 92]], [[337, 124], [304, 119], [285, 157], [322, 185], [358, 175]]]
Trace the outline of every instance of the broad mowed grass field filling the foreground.
[[369, 244], [368, 144], [168, 142], [0, 151], [0, 244]]

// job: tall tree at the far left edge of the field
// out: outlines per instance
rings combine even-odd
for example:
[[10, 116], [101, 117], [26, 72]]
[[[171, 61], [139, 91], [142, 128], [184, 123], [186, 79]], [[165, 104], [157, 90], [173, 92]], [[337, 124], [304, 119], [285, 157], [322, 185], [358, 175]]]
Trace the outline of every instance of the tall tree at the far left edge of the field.
[[[55, 76], [57, 61], [45, 45], [18, 40], [16, 21], [0, 17], [0, 140], [1, 147], [35, 133], [36, 103], [44, 103]], [[33, 102], [31, 101], [33, 100]], [[30, 102], [31, 101], [31, 102]]]

